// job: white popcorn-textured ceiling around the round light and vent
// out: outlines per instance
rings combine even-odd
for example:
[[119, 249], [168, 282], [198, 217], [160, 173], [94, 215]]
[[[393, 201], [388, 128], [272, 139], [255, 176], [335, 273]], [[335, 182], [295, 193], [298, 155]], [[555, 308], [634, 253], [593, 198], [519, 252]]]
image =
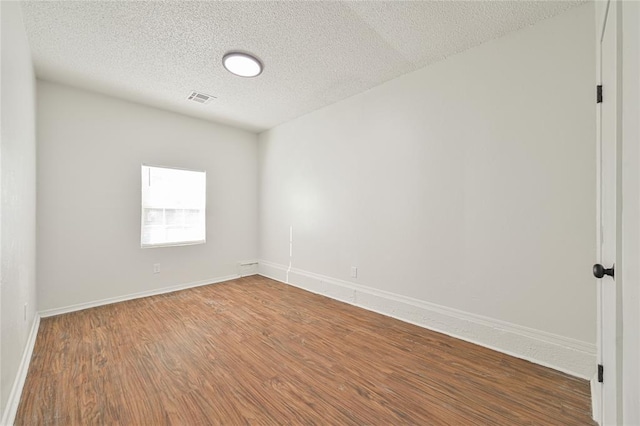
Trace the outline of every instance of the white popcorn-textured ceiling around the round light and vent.
[[[581, 1], [24, 2], [38, 77], [262, 131]], [[229, 74], [229, 50], [257, 78]], [[217, 97], [187, 101], [192, 90]]]

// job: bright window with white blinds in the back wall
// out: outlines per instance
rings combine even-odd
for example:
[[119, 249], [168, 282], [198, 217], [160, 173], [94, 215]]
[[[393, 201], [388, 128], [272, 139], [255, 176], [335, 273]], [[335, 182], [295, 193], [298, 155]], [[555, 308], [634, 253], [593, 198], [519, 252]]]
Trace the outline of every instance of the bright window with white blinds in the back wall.
[[142, 165], [141, 247], [203, 244], [206, 172]]

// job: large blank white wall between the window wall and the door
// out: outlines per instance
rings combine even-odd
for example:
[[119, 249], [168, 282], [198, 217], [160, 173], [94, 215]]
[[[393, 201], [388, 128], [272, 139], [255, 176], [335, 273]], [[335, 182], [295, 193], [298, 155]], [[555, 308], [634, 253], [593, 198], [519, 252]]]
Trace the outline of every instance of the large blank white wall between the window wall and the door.
[[593, 352], [593, 22], [572, 9], [261, 134], [261, 259]]

